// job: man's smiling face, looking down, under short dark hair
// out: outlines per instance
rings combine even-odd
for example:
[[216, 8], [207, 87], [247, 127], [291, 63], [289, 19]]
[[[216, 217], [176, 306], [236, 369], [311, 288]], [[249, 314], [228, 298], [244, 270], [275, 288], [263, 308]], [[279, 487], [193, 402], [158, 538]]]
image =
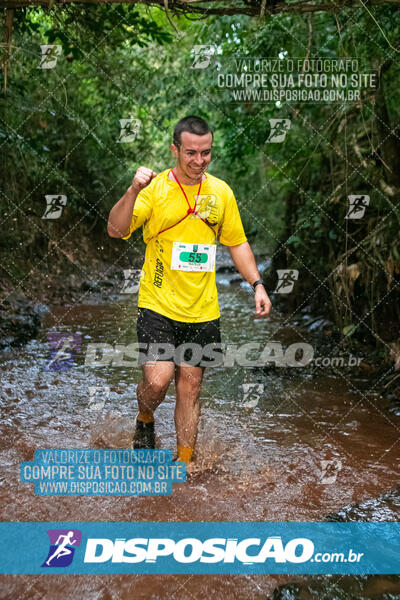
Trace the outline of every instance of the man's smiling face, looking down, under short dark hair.
[[211, 162], [212, 134], [196, 135], [183, 131], [179, 148], [171, 144], [179, 170], [189, 179], [200, 181]]

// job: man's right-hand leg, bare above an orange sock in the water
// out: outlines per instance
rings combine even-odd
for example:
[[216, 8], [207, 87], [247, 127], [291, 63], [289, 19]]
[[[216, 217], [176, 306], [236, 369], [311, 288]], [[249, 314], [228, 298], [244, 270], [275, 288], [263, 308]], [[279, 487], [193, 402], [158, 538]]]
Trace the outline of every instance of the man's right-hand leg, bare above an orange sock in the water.
[[200, 418], [200, 390], [204, 367], [176, 366], [175, 428], [178, 460], [189, 463], [196, 444]]

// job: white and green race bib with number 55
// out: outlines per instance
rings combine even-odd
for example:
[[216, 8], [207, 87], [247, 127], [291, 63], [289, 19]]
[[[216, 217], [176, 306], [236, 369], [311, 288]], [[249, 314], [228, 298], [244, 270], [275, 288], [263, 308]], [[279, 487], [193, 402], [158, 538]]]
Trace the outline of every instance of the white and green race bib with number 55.
[[175, 271], [214, 271], [216, 244], [173, 242], [171, 269]]

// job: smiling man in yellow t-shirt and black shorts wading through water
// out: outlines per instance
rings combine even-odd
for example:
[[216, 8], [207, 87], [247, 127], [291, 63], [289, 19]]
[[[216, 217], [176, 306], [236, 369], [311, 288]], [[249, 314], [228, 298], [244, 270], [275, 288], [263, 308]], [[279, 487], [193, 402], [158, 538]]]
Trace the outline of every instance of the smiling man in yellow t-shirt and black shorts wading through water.
[[[146, 254], [138, 298], [138, 341], [150, 344], [197, 343], [204, 349], [221, 344], [215, 284], [217, 240], [229, 247], [240, 274], [254, 288], [256, 316], [266, 317], [271, 302], [247, 242], [231, 188], [206, 174], [213, 132], [199, 117], [181, 119], [170, 148], [172, 169], [158, 175], [139, 167], [131, 186], [110, 211], [108, 234], [128, 239], [143, 226]], [[188, 364], [185, 355], [150, 356], [142, 365], [137, 388], [134, 448], [154, 448], [154, 412], [175, 377], [177, 460], [193, 460], [200, 416], [204, 366]]]

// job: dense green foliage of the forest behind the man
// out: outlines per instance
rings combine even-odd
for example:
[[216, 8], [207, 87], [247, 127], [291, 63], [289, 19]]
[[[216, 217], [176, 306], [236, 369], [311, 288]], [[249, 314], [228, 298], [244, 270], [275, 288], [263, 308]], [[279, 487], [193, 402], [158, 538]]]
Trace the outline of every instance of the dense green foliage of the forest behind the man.
[[[82, 225], [103, 243], [135, 169], [170, 166], [174, 123], [197, 114], [215, 130], [210, 171], [234, 189], [251, 243], [273, 256], [270, 284], [278, 268], [299, 270], [289, 308], [323, 308], [344, 335], [388, 349], [400, 316], [398, 16], [360, 6], [263, 23], [180, 17], [177, 33], [140, 5], [16, 11], [1, 98], [6, 278], [27, 272], [29, 245], [79, 244]], [[38, 68], [41, 44], [62, 46], [56, 68]], [[213, 46], [209, 67], [192, 68], [196, 45]], [[380, 85], [358, 103], [232, 104], [216, 73], [237, 55], [356, 57]], [[124, 118], [141, 122], [133, 143], [117, 141]], [[291, 120], [284, 143], [268, 143], [271, 118]], [[62, 221], [41, 219], [46, 194], [67, 195]], [[365, 218], [345, 219], [349, 194], [370, 196]]]

